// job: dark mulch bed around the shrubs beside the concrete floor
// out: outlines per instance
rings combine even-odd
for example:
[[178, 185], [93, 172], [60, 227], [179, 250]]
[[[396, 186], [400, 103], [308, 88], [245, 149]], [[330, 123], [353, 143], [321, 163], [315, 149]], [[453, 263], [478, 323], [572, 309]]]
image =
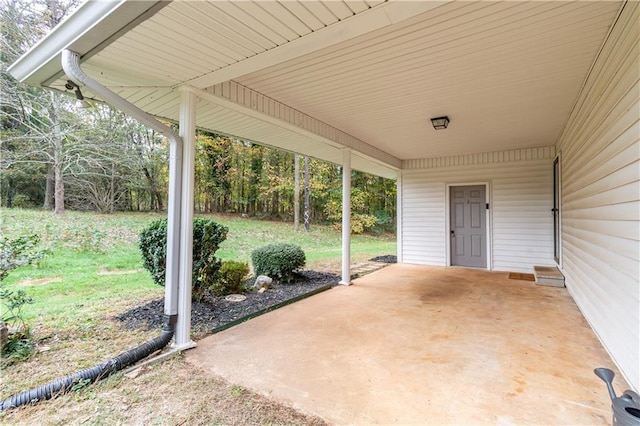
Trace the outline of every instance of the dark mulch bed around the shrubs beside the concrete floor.
[[[340, 277], [335, 274], [302, 271], [296, 281], [289, 284], [272, 284], [264, 293], [247, 291], [242, 302], [230, 302], [224, 296], [209, 297], [207, 302], [193, 302], [191, 305], [191, 329], [196, 335], [206, 335], [213, 329], [251, 315], [262, 309], [312, 292], [327, 284], [335, 285]], [[253, 284], [253, 282], [250, 282]], [[115, 318], [128, 330], [153, 330], [162, 327], [164, 298], [153, 300], [130, 309]]]

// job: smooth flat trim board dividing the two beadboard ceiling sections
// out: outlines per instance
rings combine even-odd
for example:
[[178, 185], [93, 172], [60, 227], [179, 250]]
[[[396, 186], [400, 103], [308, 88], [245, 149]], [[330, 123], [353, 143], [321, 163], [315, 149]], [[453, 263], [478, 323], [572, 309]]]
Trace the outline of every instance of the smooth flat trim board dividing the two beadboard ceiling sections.
[[451, 0], [389, 1], [264, 53], [184, 82], [204, 89], [428, 12]]

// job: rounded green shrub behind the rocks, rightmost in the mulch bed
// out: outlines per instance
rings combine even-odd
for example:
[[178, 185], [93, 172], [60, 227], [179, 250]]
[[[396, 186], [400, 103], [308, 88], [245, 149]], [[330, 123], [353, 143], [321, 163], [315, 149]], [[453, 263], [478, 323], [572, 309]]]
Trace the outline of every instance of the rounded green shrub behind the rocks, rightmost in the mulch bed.
[[287, 243], [268, 244], [251, 253], [253, 271], [278, 281], [291, 282], [293, 273], [302, 269], [306, 262], [300, 246]]

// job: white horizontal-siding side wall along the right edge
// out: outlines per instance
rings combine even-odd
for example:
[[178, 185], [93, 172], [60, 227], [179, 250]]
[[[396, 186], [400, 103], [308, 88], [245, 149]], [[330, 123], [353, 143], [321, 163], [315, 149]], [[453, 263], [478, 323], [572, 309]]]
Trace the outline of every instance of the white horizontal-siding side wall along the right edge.
[[[566, 285], [640, 388], [640, 3], [628, 2], [558, 142]], [[597, 366], [593, 366], [597, 367]]]

